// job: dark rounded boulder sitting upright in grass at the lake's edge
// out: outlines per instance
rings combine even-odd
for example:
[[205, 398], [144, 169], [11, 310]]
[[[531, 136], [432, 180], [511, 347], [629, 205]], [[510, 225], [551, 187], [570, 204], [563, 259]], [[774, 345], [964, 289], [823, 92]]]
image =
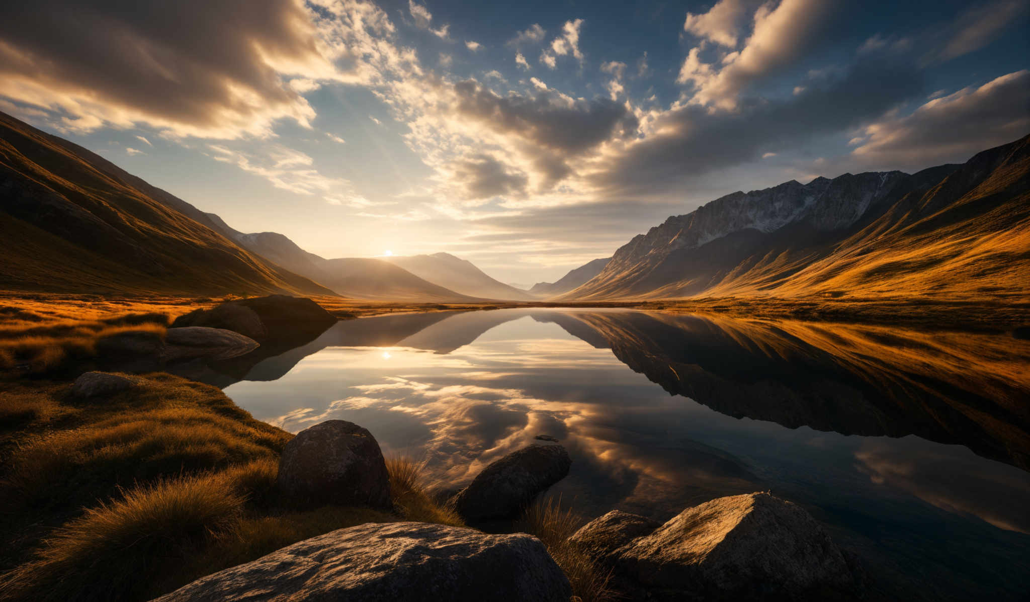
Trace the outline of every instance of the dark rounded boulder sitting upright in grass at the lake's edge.
[[379, 443], [346, 421], [325, 421], [290, 439], [279, 458], [278, 486], [297, 505], [390, 506]]

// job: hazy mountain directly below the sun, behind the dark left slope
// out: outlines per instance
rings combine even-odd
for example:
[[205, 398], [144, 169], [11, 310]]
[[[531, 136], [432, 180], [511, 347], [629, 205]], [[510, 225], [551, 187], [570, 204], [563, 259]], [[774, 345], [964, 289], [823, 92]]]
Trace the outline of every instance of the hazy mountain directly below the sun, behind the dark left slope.
[[[235, 240], [240, 246], [286, 269], [321, 282], [347, 297], [369, 300], [456, 301], [465, 303], [481, 300], [448, 290], [435, 281], [428, 281], [427, 278], [419, 277], [403, 267], [391, 265], [380, 259], [324, 259], [304, 250], [296, 242], [278, 232], [244, 234], [231, 228], [214, 213], [206, 213], [205, 215], [220, 232]], [[438, 255], [447, 256], [447, 254]], [[453, 256], [447, 257], [461, 262]], [[468, 265], [473, 270], [478, 271], [472, 264]], [[482, 272], [479, 273], [482, 274]], [[492, 279], [486, 274], [482, 275]]]

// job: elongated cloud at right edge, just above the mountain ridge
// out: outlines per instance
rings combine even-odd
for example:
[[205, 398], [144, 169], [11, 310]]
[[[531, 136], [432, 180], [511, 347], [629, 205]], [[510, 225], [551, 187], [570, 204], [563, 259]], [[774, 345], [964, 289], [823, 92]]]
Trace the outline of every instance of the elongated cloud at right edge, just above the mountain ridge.
[[1030, 71], [934, 98], [913, 113], [866, 126], [852, 155], [867, 165], [921, 169], [1010, 142], [1030, 132]]

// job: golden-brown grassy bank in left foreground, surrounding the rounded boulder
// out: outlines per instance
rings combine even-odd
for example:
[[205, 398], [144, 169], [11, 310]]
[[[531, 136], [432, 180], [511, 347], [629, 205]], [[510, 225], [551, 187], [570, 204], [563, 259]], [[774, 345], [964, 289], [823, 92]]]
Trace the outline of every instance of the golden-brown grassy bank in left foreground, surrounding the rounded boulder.
[[289, 433], [213, 387], [138, 378], [102, 402], [67, 383], [0, 382], [0, 599], [148, 600], [336, 529], [462, 525], [404, 458], [387, 461], [392, 512], [291, 510], [276, 490]]

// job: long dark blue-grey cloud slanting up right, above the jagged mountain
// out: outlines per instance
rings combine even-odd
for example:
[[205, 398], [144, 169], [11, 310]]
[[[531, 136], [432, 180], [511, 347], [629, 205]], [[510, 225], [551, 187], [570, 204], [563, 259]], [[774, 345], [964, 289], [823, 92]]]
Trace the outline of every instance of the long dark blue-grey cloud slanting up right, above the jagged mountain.
[[717, 112], [686, 105], [661, 115], [654, 134], [613, 157], [591, 179], [609, 196], [665, 193], [757, 160], [765, 148], [859, 126], [923, 89], [913, 67], [864, 61], [786, 100], [741, 100], [736, 110]]

